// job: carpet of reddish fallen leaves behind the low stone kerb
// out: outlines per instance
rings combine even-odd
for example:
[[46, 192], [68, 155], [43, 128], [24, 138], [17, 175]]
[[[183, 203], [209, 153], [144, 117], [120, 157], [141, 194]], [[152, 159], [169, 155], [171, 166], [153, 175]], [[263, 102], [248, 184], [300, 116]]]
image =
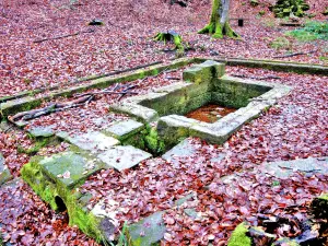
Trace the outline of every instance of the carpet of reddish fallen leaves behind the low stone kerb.
[[[242, 42], [212, 39], [198, 35], [210, 14], [210, 1], [191, 1], [188, 8], [169, 5], [163, 0], [114, 1], [80, 0], [69, 1], [14, 0], [2, 1], [0, 33], [0, 75], [5, 83], [0, 85], [0, 96], [12, 95], [36, 87], [65, 85], [77, 78], [102, 74], [131, 68], [152, 61], [173, 58], [174, 52], [163, 52], [167, 46], [155, 43], [157, 32], [175, 30], [196, 50], [187, 56], [220, 55], [227, 57], [253, 57], [270, 59], [288, 51], [312, 51], [308, 56], [285, 58], [304, 62], [324, 62], [320, 56], [327, 54], [324, 42], [297, 43], [292, 47], [272, 49], [270, 43], [292, 27], [282, 27], [268, 11], [270, 0], [260, 1], [257, 8], [249, 2], [233, 1], [231, 16], [245, 17], [244, 27], [233, 27], [243, 37]], [[323, 3], [320, 3], [323, 2]], [[245, 4], [246, 3], [246, 4]], [[324, 1], [309, 1], [316, 19]], [[161, 11], [159, 11], [159, 8]], [[320, 8], [320, 9], [319, 9]], [[260, 10], [266, 15], [259, 17]], [[93, 19], [101, 19], [105, 25], [87, 26]], [[34, 43], [77, 32], [72, 37]]]

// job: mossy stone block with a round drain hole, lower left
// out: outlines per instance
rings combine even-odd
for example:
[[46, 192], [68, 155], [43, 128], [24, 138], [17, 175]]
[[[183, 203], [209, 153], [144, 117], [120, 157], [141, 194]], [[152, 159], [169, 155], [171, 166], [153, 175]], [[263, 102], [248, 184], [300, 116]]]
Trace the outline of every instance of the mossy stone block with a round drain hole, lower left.
[[[66, 165], [65, 163], [67, 161], [71, 162], [72, 160], [77, 164], [75, 167], [80, 169], [79, 163], [81, 164], [82, 157], [73, 153], [65, 153], [63, 156], [59, 154], [52, 159], [35, 156], [31, 159], [30, 163], [23, 166], [21, 174], [33, 190], [40, 196], [44, 201], [49, 203], [54, 210], [68, 210], [70, 225], [78, 225], [85, 234], [96, 238], [97, 242], [101, 243], [105, 239], [99, 229], [101, 219], [84, 208], [84, 203], [81, 203], [81, 194], [78, 189], [73, 188], [81, 185], [87, 176], [81, 179], [81, 175], [78, 175], [77, 171], [72, 171], [71, 168], [69, 169], [73, 172], [72, 177], [62, 178], [56, 175], [62, 171], [68, 171], [63, 167]], [[59, 171], [56, 171], [57, 164], [60, 163], [63, 169], [58, 167]], [[54, 166], [50, 167], [51, 164]], [[91, 173], [93, 172], [87, 171], [89, 175]], [[62, 181], [62, 179], [68, 179], [68, 181]], [[62, 206], [66, 208], [62, 208]]]

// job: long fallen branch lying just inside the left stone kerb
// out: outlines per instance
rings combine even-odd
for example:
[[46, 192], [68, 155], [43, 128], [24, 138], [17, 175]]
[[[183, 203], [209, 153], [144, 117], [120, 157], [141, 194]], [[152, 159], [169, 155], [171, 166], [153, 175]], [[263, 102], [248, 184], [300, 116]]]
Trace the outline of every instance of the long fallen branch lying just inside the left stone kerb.
[[8, 119], [11, 122], [15, 122], [17, 120], [35, 119], [37, 117], [40, 117], [43, 115], [48, 115], [50, 113], [61, 112], [61, 110], [65, 110], [65, 109], [68, 109], [68, 108], [73, 108], [73, 107], [79, 107], [79, 106], [82, 106], [82, 105], [86, 105], [93, 98], [94, 98], [93, 95], [87, 95], [87, 96], [83, 96], [83, 97], [78, 98], [78, 99], [73, 99], [73, 101], [68, 102], [68, 103], [55, 103], [55, 104], [50, 104], [50, 105], [48, 105], [46, 107], [43, 107], [43, 108], [17, 113], [14, 116], [9, 116]]

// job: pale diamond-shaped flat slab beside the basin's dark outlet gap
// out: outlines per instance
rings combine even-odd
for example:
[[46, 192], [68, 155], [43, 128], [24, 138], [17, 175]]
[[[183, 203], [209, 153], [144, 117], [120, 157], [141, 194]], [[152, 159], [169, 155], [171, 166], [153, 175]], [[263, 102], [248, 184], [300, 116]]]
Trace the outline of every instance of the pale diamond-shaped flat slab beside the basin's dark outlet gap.
[[131, 145], [114, 147], [97, 155], [108, 168], [114, 167], [117, 171], [131, 168], [151, 156], [150, 153]]

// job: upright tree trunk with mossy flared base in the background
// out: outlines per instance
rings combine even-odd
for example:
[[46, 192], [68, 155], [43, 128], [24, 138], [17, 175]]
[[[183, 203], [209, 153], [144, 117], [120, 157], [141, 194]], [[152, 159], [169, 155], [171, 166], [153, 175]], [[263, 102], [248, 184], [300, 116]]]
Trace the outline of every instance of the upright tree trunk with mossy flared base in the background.
[[222, 38], [224, 35], [241, 38], [229, 24], [229, 5], [230, 0], [213, 0], [210, 23], [198, 33], [209, 33], [215, 38]]

